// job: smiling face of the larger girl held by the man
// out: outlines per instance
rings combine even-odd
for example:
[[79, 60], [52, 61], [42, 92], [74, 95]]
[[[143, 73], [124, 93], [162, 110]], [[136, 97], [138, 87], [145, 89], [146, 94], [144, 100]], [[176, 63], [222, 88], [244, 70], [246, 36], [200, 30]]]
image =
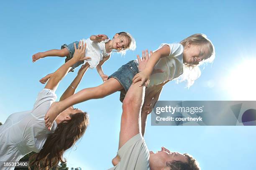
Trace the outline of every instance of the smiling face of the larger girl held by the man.
[[183, 62], [187, 64], [197, 65], [205, 59], [205, 53], [202, 52], [200, 46], [187, 45], [183, 51]]

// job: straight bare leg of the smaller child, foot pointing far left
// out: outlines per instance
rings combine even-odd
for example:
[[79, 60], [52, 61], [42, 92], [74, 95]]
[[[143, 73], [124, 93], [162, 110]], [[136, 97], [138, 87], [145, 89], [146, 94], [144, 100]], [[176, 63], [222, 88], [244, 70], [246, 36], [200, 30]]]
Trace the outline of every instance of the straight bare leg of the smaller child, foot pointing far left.
[[69, 55], [69, 51], [67, 50], [67, 48], [63, 48], [61, 50], [55, 50], [54, 49], [54, 50], [49, 50], [49, 51], [33, 54], [32, 61], [36, 62], [36, 60], [38, 60], [40, 58], [47, 57], [47, 56], [65, 57], [65, 56], [68, 56], [68, 55]]

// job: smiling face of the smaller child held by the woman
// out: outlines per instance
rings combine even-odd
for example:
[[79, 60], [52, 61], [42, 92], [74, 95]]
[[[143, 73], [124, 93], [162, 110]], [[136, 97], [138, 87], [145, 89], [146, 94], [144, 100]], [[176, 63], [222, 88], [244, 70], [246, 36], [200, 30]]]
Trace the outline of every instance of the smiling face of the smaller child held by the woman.
[[129, 39], [126, 36], [115, 34], [113, 38], [113, 49], [121, 51], [128, 48]]

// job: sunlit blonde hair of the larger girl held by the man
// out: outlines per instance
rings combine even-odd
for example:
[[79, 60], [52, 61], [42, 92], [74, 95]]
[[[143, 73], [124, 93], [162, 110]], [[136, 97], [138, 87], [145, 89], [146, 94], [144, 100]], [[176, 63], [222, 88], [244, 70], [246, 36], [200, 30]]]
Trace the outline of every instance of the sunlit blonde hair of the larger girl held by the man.
[[182, 81], [187, 81], [187, 87], [194, 84], [195, 80], [201, 76], [201, 71], [199, 66], [205, 63], [212, 63], [215, 58], [215, 48], [212, 42], [207, 38], [205, 34], [193, 34], [182, 40], [180, 42], [184, 48], [189, 44], [194, 46], [200, 46], [200, 56], [205, 56], [205, 58], [199, 62], [198, 65], [187, 64], [183, 65], [183, 74], [179, 76], [176, 80], [177, 83]]

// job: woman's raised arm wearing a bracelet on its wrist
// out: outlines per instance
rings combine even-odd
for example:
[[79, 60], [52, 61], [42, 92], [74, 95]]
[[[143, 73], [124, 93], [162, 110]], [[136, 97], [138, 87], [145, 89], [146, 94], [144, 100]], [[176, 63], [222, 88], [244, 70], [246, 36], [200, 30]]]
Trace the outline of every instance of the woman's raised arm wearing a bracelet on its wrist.
[[77, 86], [79, 85], [79, 83], [81, 82], [84, 73], [87, 71], [87, 69], [90, 67], [90, 65], [88, 63], [85, 63], [84, 65], [82, 65], [82, 67], [79, 69], [76, 78], [72, 81], [72, 83], [68, 86], [68, 88], [66, 89], [66, 91], [62, 94], [61, 98], [59, 99], [59, 101], [62, 101], [64, 99], [67, 99], [69, 96], [72, 96], [76, 89]]

